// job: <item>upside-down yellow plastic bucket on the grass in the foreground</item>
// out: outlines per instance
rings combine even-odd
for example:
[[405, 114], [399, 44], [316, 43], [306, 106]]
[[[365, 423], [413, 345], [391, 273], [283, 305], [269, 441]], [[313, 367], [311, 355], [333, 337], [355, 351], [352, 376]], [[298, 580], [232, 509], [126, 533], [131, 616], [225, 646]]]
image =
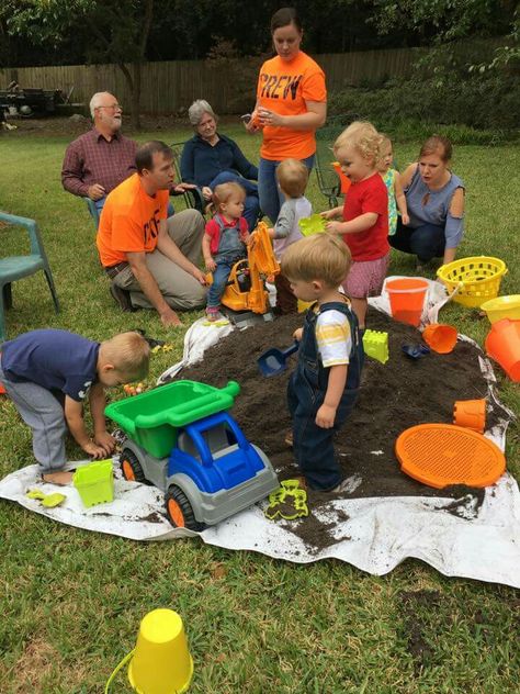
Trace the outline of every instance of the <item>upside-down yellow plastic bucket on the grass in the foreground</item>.
[[181, 694], [190, 686], [193, 661], [181, 617], [154, 609], [142, 620], [128, 680], [138, 694]]

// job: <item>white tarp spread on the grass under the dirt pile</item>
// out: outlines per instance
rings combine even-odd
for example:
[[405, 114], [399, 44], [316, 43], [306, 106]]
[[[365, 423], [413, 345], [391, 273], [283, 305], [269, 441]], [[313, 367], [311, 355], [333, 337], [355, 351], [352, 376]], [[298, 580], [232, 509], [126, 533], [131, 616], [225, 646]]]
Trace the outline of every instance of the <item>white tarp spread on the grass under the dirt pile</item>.
[[[446, 295], [434, 282], [428, 301], [438, 309]], [[440, 289], [438, 289], [440, 288]], [[441, 291], [442, 290], [442, 291]], [[384, 298], [374, 302], [384, 310]], [[186, 333], [183, 361], [179, 368], [202, 358], [205, 339], [214, 344], [231, 328], [204, 326], [197, 321]], [[201, 345], [202, 343], [202, 345]], [[196, 345], [196, 358], [192, 348]], [[207, 345], [205, 345], [207, 346]], [[177, 365], [179, 366], [179, 365]], [[482, 359], [489, 384], [489, 401], [496, 403], [493, 369]], [[179, 368], [177, 370], [179, 370]], [[173, 368], [172, 368], [173, 371]], [[177, 371], [176, 371], [177, 372]], [[506, 416], [512, 417], [507, 412]], [[504, 450], [508, 419], [487, 435]], [[81, 463], [76, 463], [77, 467]], [[116, 466], [117, 468], [117, 466]], [[61, 506], [44, 508], [25, 493], [39, 489], [67, 495]], [[194, 536], [173, 529], [163, 515], [162, 494], [155, 488], [121, 479], [116, 469], [115, 500], [84, 508], [74, 488], [57, 488], [38, 481], [37, 466], [18, 470], [0, 481], [0, 497], [49, 518], [88, 530], [120, 535], [135, 540], [167, 540]], [[408, 557], [421, 559], [444, 575], [457, 575], [520, 587], [520, 493], [517, 482], [506, 473], [486, 489], [481, 506], [472, 495], [453, 500], [438, 497], [373, 497], [334, 500], [318, 511], [319, 520], [334, 522], [336, 542], [326, 549], [306, 545], [289, 528], [303, 520], [268, 520], [261, 505], [253, 506], [201, 534], [204, 542], [227, 549], [249, 549], [269, 557], [309, 563], [334, 557], [363, 571], [382, 575]]]

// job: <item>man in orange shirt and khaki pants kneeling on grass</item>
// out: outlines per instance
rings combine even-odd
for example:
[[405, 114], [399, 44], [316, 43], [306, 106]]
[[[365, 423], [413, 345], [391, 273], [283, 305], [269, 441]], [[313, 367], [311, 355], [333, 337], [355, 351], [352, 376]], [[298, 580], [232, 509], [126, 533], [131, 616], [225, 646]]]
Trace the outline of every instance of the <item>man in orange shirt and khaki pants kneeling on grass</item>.
[[173, 153], [151, 141], [136, 153], [137, 174], [115, 188], [101, 214], [97, 245], [124, 310], [156, 309], [165, 326], [180, 325], [176, 311], [205, 304], [197, 267], [204, 220], [195, 210], [167, 219]]

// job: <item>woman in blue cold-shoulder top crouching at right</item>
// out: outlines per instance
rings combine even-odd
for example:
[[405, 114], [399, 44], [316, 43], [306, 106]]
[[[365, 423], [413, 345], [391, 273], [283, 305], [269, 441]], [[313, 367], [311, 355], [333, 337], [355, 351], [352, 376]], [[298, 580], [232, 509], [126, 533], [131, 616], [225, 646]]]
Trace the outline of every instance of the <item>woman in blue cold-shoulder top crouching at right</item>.
[[417, 256], [422, 265], [432, 258], [455, 259], [464, 233], [464, 183], [451, 172], [452, 146], [432, 135], [422, 145], [419, 160], [402, 175], [409, 223], [398, 219], [391, 246]]

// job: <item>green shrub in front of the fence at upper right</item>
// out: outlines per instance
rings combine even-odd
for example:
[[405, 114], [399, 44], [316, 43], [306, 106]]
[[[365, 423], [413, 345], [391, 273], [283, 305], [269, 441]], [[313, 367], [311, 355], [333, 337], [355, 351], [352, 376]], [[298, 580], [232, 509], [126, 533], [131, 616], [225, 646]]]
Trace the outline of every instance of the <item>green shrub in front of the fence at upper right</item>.
[[[459, 144], [496, 144], [518, 136], [520, 80], [515, 66], [481, 71], [491, 58], [485, 43], [432, 51], [409, 78], [376, 88], [351, 87], [332, 93], [331, 114], [353, 112], [405, 138], [442, 130]], [[472, 69], [473, 67], [473, 69]]]

